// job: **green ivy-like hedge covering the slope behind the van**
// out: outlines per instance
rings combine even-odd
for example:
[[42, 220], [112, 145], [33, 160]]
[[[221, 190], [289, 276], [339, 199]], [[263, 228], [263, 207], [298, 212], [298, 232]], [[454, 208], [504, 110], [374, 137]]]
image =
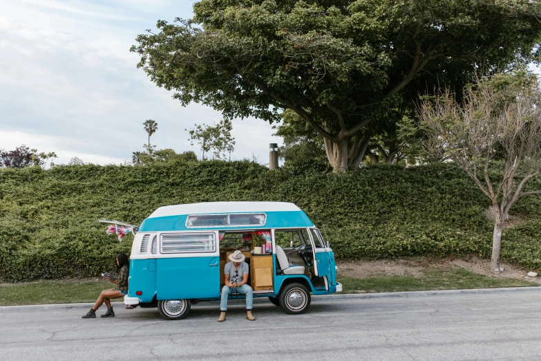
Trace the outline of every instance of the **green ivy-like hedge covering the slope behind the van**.
[[[98, 219], [139, 224], [162, 205], [209, 201], [296, 203], [341, 258], [489, 257], [491, 250], [488, 199], [452, 165], [348, 174], [220, 161], [28, 167], [0, 171], [0, 280], [111, 270], [117, 252], [129, 253], [131, 237], [119, 243]], [[520, 202], [524, 223], [504, 233], [502, 256], [539, 270], [540, 199]]]

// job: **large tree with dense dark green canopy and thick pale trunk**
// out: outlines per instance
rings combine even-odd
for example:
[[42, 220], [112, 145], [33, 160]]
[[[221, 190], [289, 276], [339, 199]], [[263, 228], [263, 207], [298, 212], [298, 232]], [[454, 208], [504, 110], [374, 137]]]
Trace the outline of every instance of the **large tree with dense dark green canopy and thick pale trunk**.
[[[530, 0], [201, 0], [158, 21], [132, 51], [182, 104], [278, 120], [291, 109], [325, 140], [336, 171], [419, 89], [461, 88], [475, 71], [529, 62], [541, 33]], [[365, 134], [366, 133], [366, 134]]]

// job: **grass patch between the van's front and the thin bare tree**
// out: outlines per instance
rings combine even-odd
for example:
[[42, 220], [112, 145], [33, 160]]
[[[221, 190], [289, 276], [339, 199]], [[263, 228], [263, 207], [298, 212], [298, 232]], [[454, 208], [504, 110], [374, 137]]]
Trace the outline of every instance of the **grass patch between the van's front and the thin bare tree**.
[[429, 270], [421, 277], [411, 275], [386, 277], [338, 277], [343, 286], [342, 293], [406, 292], [416, 290], [466, 290], [472, 288], [502, 288], [538, 286], [534, 282], [520, 279], [496, 279], [464, 268]]

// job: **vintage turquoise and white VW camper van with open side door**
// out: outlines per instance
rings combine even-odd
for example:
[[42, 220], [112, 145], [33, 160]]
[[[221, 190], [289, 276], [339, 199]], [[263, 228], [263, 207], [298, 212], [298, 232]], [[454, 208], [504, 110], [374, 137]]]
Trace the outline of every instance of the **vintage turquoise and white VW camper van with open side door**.
[[310, 293], [342, 290], [329, 243], [293, 203], [194, 203], [160, 207], [140, 225], [124, 304], [158, 306], [165, 319], [180, 320], [191, 304], [220, 299], [235, 250], [246, 256], [254, 298], [287, 313], [303, 313]]

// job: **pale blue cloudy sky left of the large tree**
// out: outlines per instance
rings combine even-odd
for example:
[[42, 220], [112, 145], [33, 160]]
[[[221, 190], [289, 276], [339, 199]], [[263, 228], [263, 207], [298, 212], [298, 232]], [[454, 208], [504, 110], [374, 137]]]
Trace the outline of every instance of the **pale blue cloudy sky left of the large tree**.
[[[184, 0], [0, 0], [0, 149], [20, 145], [46, 153], [56, 164], [120, 164], [142, 151], [142, 123], [158, 122], [157, 149], [192, 150], [194, 124], [213, 124], [219, 112], [201, 104], [182, 107], [136, 68], [129, 48], [158, 19], [192, 16]], [[233, 120], [232, 159], [269, 162], [272, 125]]]

